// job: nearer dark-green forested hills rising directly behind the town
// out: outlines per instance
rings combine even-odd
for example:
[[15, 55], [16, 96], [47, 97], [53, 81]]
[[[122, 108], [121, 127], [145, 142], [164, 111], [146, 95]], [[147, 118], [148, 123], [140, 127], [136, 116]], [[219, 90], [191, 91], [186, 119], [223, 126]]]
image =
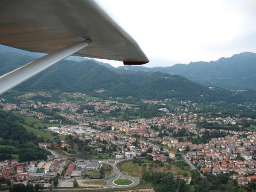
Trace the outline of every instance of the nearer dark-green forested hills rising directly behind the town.
[[[0, 53], [0, 75], [23, 64], [35, 60], [34, 57], [18, 53]], [[60, 90], [62, 92], [82, 92], [93, 96], [134, 96], [140, 99], [189, 99], [195, 102], [230, 101], [245, 102], [255, 98], [246, 93], [235, 93], [218, 87], [207, 87], [184, 77], [161, 72], [145, 74], [119, 74], [93, 60], [64, 60], [49, 67], [33, 78], [15, 87], [16, 90]], [[96, 90], [105, 90], [97, 93]], [[254, 94], [255, 95], [255, 94]]]

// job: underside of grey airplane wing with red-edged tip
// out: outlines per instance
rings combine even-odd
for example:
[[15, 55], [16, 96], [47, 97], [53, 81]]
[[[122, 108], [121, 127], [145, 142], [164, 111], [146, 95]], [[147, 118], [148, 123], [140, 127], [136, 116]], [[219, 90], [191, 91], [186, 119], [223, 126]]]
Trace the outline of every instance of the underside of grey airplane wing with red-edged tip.
[[148, 63], [136, 41], [94, 0], [0, 1], [0, 44], [51, 53], [83, 40], [90, 46], [73, 55]]

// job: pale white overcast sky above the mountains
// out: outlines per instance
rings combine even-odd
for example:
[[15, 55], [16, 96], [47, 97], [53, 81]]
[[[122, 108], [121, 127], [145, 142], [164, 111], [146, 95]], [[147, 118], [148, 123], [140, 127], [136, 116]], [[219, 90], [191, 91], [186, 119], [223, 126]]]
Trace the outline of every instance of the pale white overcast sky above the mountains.
[[215, 61], [240, 52], [256, 52], [256, 0], [98, 2], [140, 45], [150, 60], [145, 67]]

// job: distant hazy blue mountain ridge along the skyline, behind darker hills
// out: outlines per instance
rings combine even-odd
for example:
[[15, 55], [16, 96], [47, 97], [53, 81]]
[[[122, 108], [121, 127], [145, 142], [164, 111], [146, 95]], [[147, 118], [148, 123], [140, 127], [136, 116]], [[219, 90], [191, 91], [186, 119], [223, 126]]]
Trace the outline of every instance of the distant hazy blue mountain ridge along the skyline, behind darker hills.
[[[35, 58], [41, 57], [42, 53], [33, 53], [0, 45], [0, 52], [16, 52]], [[179, 75], [197, 82], [201, 85], [216, 86], [229, 90], [253, 89], [256, 90], [256, 54], [243, 52], [230, 58], [220, 58], [210, 62], [191, 62], [189, 64], [175, 64], [171, 67], [145, 67], [143, 66], [121, 66], [113, 67], [108, 63], [94, 59], [70, 56], [66, 60], [94, 61], [119, 74], [152, 74], [160, 71], [172, 75]]]

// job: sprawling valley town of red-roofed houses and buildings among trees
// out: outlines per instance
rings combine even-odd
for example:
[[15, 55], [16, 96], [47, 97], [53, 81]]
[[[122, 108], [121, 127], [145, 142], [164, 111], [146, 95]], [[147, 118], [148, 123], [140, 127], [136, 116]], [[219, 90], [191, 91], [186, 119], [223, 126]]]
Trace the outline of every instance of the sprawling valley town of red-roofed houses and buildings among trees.
[[[40, 94], [51, 96], [47, 92]], [[109, 184], [109, 178], [116, 177], [114, 167], [119, 162], [136, 163], [136, 159], [148, 158], [163, 165], [182, 161], [190, 170], [198, 170], [203, 178], [228, 174], [240, 186], [256, 180], [256, 119], [251, 116], [208, 112], [200, 104], [174, 98], [141, 100], [136, 105], [122, 102], [122, 98], [86, 98], [83, 93], [66, 97], [67, 102], [31, 102], [22, 97], [20, 104], [0, 100], [3, 110], [44, 124], [39, 128], [36, 122], [27, 123], [32, 127], [29, 130], [56, 137], [38, 142], [40, 148], [49, 152], [46, 160], [3, 160], [0, 177], [13, 183], [39, 183], [50, 188], [73, 187], [76, 182], [80, 187], [102, 187]], [[75, 102], [76, 99], [84, 101]], [[176, 107], [170, 108], [173, 102]], [[157, 115], [140, 114], [143, 105], [148, 113], [154, 110]], [[256, 104], [237, 107], [255, 110]], [[186, 183], [191, 180], [191, 175], [184, 171], [175, 173], [175, 177]], [[93, 179], [105, 180], [86, 184]]]

